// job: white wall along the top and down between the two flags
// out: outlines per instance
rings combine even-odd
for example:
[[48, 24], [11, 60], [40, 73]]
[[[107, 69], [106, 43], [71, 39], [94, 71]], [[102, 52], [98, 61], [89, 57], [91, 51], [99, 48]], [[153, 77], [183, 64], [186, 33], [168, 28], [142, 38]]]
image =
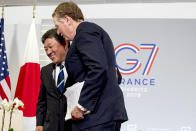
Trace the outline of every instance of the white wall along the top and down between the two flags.
[[[54, 6], [37, 6], [37, 35], [40, 42], [42, 19], [51, 19]], [[166, 18], [196, 19], [196, 3], [145, 3], [80, 5], [85, 18]], [[32, 20], [32, 6], [5, 7], [5, 40], [10, 70], [12, 95], [23, 61], [24, 47]], [[1, 11], [0, 11], [1, 13]]]

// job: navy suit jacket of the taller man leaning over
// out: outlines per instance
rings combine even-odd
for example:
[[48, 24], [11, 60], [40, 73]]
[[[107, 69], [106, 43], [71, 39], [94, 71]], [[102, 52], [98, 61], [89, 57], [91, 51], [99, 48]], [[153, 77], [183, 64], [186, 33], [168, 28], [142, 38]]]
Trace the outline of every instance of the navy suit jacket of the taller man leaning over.
[[115, 70], [115, 53], [108, 34], [98, 25], [82, 22], [69, 48], [65, 65], [69, 84], [85, 81], [79, 104], [91, 110], [74, 122], [80, 129], [128, 119]]

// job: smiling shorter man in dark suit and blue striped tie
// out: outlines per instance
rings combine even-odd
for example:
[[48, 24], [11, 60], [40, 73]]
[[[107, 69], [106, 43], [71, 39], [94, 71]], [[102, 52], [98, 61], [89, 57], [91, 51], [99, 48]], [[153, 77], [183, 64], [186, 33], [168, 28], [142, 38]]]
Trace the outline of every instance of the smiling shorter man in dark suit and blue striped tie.
[[[63, 65], [68, 43], [65, 39], [57, 34], [56, 29], [47, 31], [42, 36], [42, 42], [47, 56], [52, 63], [41, 69], [41, 86], [36, 107], [36, 131], [71, 131], [69, 122], [65, 123], [65, 114], [67, 110], [66, 98], [63, 95], [65, 88], [60, 90], [57, 85], [58, 74], [62, 71], [65, 83], [67, 72], [65, 68], [60, 69]], [[67, 86], [63, 83], [63, 86]]]

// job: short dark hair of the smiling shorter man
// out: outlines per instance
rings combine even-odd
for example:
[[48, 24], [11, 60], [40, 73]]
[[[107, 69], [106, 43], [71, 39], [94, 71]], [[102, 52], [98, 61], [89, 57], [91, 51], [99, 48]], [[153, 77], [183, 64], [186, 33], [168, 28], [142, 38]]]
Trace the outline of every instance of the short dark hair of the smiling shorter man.
[[57, 34], [56, 28], [52, 28], [44, 33], [41, 39], [42, 43], [44, 44], [45, 40], [48, 38], [55, 38], [60, 44], [65, 44], [65, 39], [61, 35]]

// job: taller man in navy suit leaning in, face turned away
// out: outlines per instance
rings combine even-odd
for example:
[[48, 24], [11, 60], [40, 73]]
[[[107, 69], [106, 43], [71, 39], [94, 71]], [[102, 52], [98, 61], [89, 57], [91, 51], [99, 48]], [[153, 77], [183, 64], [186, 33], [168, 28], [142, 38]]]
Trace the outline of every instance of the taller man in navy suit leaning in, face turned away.
[[109, 35], [98, 25], [85, 22], [73, 2], [59, 4], [52, 16], [58, 34], [72, 41], [65, 60], [69, 83], [84, 81], [72, 111], [73, 130], [120, 131], [128, 118]]

